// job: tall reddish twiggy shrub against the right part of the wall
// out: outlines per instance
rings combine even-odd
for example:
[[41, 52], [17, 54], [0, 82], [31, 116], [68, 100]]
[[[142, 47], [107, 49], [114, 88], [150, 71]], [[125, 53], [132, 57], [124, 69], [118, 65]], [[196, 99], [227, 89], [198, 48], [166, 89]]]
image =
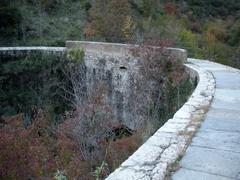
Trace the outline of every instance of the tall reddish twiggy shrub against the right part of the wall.
[[159, 127], [159, 112], [169, 103], [166, 99], [169, 87], [176, 87], [186, 77], [183, 63], [166, 49], [168, 45], [169, 41], [157, 40], [133, 48], [132, 53], [139, 60], [133, 112], [143, 117], [138, 129], [146, 127], [148, 122]]

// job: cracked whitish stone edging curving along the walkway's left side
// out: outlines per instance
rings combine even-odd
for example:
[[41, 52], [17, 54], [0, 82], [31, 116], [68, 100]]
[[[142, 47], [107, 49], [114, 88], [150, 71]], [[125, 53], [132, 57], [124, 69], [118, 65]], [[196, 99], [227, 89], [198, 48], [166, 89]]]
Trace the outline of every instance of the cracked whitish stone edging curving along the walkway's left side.
[[189, 100], [107, 180], [167, 179], [177, 168], [209, 109], [216, 86], [210, 72], [191, 64], [191, 60], [186, 67], [190, 75], [198, 78], [198, 85]]

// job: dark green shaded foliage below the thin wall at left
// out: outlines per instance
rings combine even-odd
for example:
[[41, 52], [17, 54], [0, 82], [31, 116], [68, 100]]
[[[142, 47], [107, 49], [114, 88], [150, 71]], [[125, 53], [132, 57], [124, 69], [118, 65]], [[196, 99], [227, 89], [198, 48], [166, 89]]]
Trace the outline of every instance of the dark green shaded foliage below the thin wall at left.
[[60, 86], [67, 83], [62, 72], [64, 57], [33, 52], [18, 57], [1, 56], [0, 115], [24, 113], [24, 126], [43, 109], [53, 121], [61, 121], [61, 114], [69, 108]]

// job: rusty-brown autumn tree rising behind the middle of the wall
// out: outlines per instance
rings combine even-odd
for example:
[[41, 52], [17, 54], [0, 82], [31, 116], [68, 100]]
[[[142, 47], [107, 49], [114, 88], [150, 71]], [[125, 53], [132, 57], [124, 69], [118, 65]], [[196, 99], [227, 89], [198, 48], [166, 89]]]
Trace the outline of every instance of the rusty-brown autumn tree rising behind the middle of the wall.
[[134, 24], [127, 0], [96, 0], [90, 10], [90, 22], [84, 32], [87, 37], [105, 38], [108, 41], [129, 39]]

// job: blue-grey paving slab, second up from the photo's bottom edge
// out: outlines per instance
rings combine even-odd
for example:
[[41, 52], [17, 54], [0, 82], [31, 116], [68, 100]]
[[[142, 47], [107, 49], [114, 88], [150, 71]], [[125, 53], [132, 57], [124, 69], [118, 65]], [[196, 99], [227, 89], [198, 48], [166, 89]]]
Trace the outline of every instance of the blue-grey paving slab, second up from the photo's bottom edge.
[[[189, 146], [181, 161], [181, 167], [237, 179], [240, 172], [240, 156], [239, 153]], [[175, 174], [176, 180], [180, 171]]]

